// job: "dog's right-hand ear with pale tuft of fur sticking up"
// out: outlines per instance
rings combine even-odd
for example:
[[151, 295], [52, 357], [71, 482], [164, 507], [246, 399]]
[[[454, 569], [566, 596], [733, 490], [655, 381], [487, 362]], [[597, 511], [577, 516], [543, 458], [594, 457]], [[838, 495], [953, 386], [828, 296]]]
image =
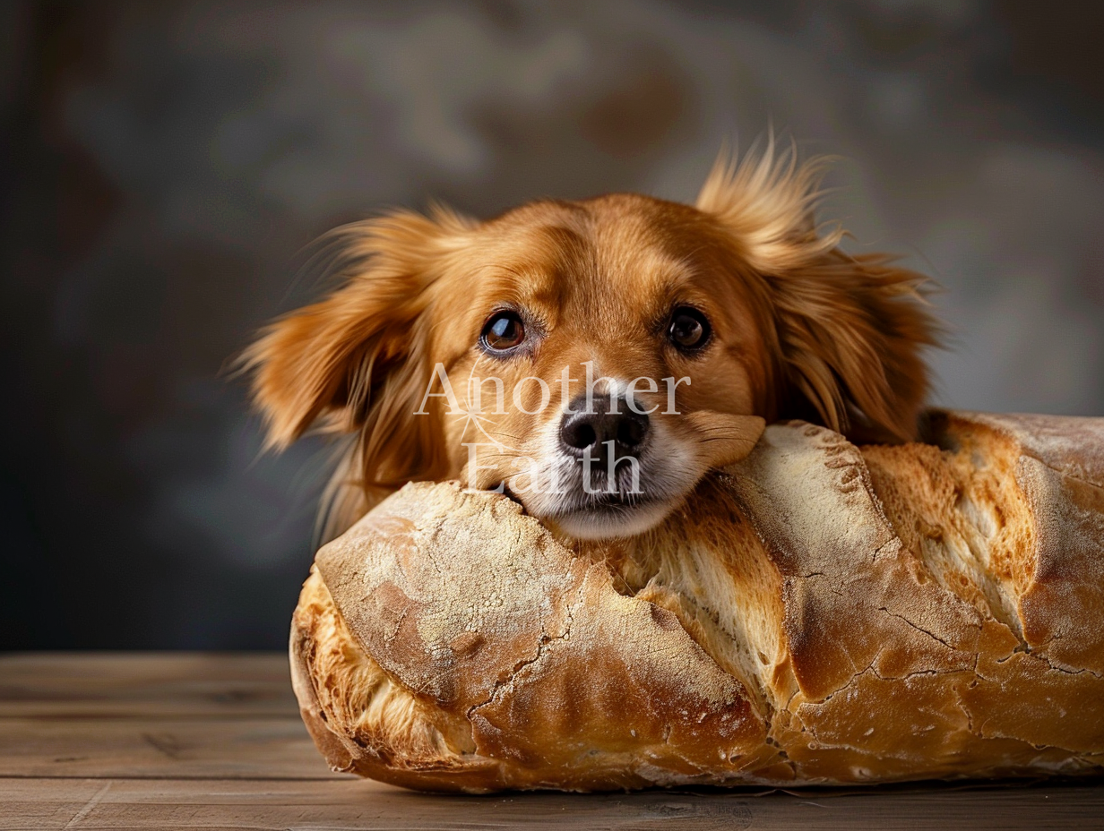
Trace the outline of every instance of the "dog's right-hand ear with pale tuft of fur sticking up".
[[779, 365], [768, 420], [805, 418], [856, 441], [907, 441], [930, 388], [924, 347], [937, 326], [925, 278], [885, 255], [840, 251], [841, 228], [820, 233], [813, 211], [825, 160], [798, 164], [794, 148], [739, 164], [722, 157], [698, 209], [733, 238], [769, 311], [764, 332]]

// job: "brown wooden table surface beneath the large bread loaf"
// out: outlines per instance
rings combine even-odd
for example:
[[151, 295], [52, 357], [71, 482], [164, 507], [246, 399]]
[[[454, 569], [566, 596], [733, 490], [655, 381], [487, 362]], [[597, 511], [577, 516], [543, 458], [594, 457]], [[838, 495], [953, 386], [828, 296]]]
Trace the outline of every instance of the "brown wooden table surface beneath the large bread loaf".
[[333, 774], [279, 654], [0, 656], [0, 829], [1104, 829], [1104, 784], [456, 797]]

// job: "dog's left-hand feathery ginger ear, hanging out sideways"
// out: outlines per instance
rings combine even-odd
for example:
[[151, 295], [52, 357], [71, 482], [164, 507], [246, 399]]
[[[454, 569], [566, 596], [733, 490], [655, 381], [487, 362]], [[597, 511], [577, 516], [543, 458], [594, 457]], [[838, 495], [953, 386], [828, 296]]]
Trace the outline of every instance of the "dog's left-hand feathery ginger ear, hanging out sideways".
[[319, 255], [339, 280], [325, 299], [265, 329], [242, 355], [269, 447], [307, 429], [360, 433], [363, 487], [442, 464], [433, 416], [414, 416], [428, 366], [429, 316], [448, 253], [470, 224], [444, 209], [347, 225]]

